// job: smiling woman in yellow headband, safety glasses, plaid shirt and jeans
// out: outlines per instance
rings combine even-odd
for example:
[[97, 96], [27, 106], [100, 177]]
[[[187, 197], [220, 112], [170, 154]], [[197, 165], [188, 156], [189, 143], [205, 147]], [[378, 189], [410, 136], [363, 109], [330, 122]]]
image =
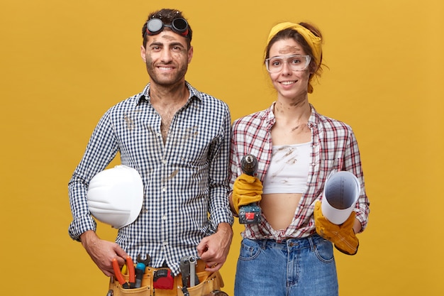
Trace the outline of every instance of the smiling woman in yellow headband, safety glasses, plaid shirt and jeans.
[[[235, 296], [338, 295], [333, 245], [357, 251], [355, 234], [367, 226], [360, 153], [350, 126], [318, 114], [309, 103], [321, 74], [322, 35], [308, 23], [279, 23], [270, 31], [265, 67], [277, 91], [269, 109], [236, 120], [231, 146], [231, 208], [259, 202], [262, 219], [246, 224], [235, 276]], [[245, 155], [255, 176], [241, 170]], [[320, 201], [327, 177], [352, 172], [360, 197], [347, 221], [331, 224]]]

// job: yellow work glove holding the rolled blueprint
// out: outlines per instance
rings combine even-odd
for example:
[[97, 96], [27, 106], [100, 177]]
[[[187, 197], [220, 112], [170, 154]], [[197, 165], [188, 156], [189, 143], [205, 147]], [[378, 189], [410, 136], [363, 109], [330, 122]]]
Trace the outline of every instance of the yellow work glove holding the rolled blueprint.
[[342, 253], [347, 255], [355, 255], [357, 247], [359, 246], [359, 240], [355, 236], [353, 230], [353, 224], [355, 223], [355, 212], [348, 217], [343, 224], [336, 225], [328, 221], [323, 216], [321, 211], [321, 202], [317, 201], [314, 206], [314, 224], [316, 226], [316, 232], [324, 239], [328, 239], [335, 244]]

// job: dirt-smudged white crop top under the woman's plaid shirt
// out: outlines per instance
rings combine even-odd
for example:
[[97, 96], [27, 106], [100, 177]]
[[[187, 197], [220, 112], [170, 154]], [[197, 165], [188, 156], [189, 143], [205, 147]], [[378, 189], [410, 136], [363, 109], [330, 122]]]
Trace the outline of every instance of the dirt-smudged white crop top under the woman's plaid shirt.
[[273, 146], [263, 193], [304, 193], [310, 168], [311, 142]]

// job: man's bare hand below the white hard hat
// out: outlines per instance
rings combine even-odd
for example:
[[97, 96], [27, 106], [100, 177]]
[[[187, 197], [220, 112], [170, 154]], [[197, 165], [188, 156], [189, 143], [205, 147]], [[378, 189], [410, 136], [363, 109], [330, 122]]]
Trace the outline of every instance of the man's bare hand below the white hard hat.
[[106, 275], [114, 275], [112, 261], [117, 258], [118, 264], [123, 266], [125, 258], [128, 254], [118, 246], [117, 243], [111, 241], [104, 241], [99, 239], [99, 236], [92, 230], [84, 232], [80, 236], [82, 246], [87, 250], [92, 261], [96, 263], [97, 267]]

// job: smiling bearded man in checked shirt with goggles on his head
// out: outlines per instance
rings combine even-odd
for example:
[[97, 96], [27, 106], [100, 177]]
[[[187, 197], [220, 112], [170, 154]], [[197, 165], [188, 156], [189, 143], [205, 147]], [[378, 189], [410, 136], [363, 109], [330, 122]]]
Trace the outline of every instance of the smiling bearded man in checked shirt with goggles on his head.
[[[173, 276], [183, 256], [199, 256], [209, 272], [226, 261], [233, 236], [227, 197], [231, 117], [225, 103], [185, 81], [191, 40], [180, 11], [150, 13], [140, 48], [150, 83], [106, 111], [70, 180], [70, 236], [107, 276], [114, 275], [113, 259], [122, 266], [128, 255], [148, 254], [152, 268], [170, 268]], [[138, 219], [119, 229], [113, 243], [95, 233], [87, 188], [118, 152], [123, 165], [138, 170], [144, 200]]]

